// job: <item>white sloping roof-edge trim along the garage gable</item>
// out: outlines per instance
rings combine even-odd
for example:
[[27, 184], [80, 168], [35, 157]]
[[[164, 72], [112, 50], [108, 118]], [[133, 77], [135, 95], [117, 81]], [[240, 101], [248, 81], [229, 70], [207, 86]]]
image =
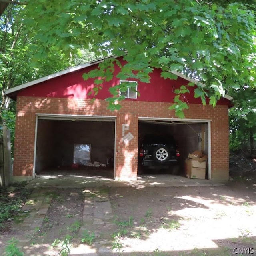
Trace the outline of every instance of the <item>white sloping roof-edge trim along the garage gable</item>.
[[[57, 73], [54, 73], [54, 74], [51, 74], [51, 75], [48, 75], [48, 76], [44, 76], [44, 77], [42, 77], [42, 78], [36, 79], [36, 80], [34, 80], [34, 81], [31, 81], [31, 82], [27, 82], [27, 83], [25, 83], [25, 84], [21, 84], [21, 85], [15, 86], [14, 88], [10, 88], [10, 89], [6, 90], [6, 91], [4, 92], [4, 94], [8, 96], [8, 94], [11, 94], [11, 93], [13, 93], [13, 92], [16, 92], [16, 91], [22, 90], [22, 89], [24, 89], [24, 88], [30, 87], [30, 86], [32, 86], [32, 85], [34, 85], [34, 84], [39, 84], [39, 83], [41, 83], [41, 82], [50, 80], [50, 79], [52, 79], [52, 78], [56, 78], [56, 77], [58, 77], [58, 76], [62, 76], [62, 75], [65, 75], [65, 74], [68, 74], [68, 73], [71, 73], [71, 72], [74, 72], [74, 71], [78, 71], [78, 70], [80, 70], [80, 69], [82, 69], [82, 68], [88, 68], [88, 67], [90, 67], [90, 66], [92, 66], [92, 65], [94, 65], [94, 64], [101, 63], [101, 62], [103, 62], [104, 60], [106, 60], [106, 59], [108, 59], [108, 58], [117, 58], [117, 57], [118, 57], [118, 56], [116, 56], [116, 55], [110, 55], [110, 56], [107, 56], [107, 57], [104, 57], [104, 58], [100, 58], [100, 59], [98, 59], [98, 60], [94, 60], [94, 61], [91, 61], [91, 62], [87, 62], [87, 63], [84, 63], [84, 64], [80, 64], [80, 65], [75, 66], [75, 67], [72, 67], [72, 68], [67, 68], [67, 69], [62, 70], [62, 71], [60, 71], [60, 72], [57, 72]], [[206, 86], [205, 84], [203, 84], [203, 83], [201, 83], [201, 82], [195, 80], [194, 78], [190, 78], [190, 77], [188, 77], [188, 76], [186, 76], [186, 75], [184, 75], [184, 74], [182, 74], [182, 73], [180, 73], [180, 72], [171, 71], [171, 73], [174, 74], [174, 75], [176, 75], [176, 76], [179, 76], [180, 78], [183, 78], [183, 79], [185, 79], [185, 80], [187, 80], [187, 81], [189, 81], [189, 82], [193, 82], [193, 83], [196, 84], [196, 85], [200, 85], [200, 86], [202, 86], [202, 87], [205, 87], [205, 86]], [[229, 95], [227, 95], [227, 94], [225, 95], [225, 98], [226, 98], [227, 100], [232, 100], [232, 99], [233, 99], [231, 96], [229, 96]]]

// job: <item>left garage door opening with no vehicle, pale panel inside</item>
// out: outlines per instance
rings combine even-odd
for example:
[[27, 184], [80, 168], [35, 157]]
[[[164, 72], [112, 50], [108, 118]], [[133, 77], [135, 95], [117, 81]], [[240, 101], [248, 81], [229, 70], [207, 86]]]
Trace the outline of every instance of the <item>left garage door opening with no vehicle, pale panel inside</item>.
[[38, 117], [36, 175], [114, 178], [115, 120]]

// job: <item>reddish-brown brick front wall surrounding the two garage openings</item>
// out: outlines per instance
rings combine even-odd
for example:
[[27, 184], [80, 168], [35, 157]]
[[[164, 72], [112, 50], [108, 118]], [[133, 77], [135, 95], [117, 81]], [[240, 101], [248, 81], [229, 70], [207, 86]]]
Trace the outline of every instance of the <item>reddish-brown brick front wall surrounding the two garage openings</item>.
[[[14, 176], [32, 178], [36, 113], [67, 115], [116, 116], [115, 178], [132, 180], [137, 176], [138, 117], [175, 118], [168, 110], [170, 103], [123, 101], [120, 111], [107, 110], [104, 100], [70, 98], [17, 98]], [[186, 118], [208, 119], [211, 122], [212, 180], [228, 180], [228, 106], [190, 104]], [[129, 124], [134, 138], [126, 145], [122, 140], [122, 124]], [[26, 176], [26, 177], [25, 177]], [[22, 178], [22, 177], [20, 177]]]

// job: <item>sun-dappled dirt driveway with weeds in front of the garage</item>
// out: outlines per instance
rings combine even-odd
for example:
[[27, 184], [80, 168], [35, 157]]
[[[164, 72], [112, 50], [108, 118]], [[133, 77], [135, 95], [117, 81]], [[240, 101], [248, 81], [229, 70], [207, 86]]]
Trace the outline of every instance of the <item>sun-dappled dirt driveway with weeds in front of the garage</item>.
[[255, 255], [255, 188], [36, 188], [1, 234], [1, 255], [12, 237], [29, 256]]

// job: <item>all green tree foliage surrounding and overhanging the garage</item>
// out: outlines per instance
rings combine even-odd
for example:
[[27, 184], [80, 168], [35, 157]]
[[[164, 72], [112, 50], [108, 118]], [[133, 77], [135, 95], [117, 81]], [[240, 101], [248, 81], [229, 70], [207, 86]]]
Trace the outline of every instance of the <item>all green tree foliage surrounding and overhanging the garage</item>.
[[[25, 5], [20, 5], [24, 3]], [[197, 85], [194, 97], [216, 105], [226, 93], [234, 97], [230, 110], [231, 147], [256, 134], [256, 3], [254, 1], [19, 1], [9, 4], [1, 16], [1, 118], [14, 130], [15, 107], [4, 90], [60, 71], [83, 60], [114, 54], [124, 56], [101, 63], [84, 79], [101, 82], [113, 76], [149, 81], [153, 68], [162, 77], [176, 79], [178, 71], [206, 84]], [[86, 50], [82, 50], [86, 49]], [[93, 53], [90, 50], [92, 49]], [[32, 64], [32, 65], [31, 65]], [[190, 83], [188, 86], [194, 86]], [[119, 85], [112, 88], [111, 109]], [[125, 90], [125, 88], [122, 88]], [[179, 117], [188, 102], [176, 90], [170, 109]], [[4, 111], [3, 111], [4, 109]], [[8, 112], [8, 110], [10, 112]]]

